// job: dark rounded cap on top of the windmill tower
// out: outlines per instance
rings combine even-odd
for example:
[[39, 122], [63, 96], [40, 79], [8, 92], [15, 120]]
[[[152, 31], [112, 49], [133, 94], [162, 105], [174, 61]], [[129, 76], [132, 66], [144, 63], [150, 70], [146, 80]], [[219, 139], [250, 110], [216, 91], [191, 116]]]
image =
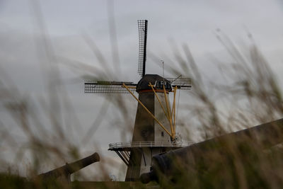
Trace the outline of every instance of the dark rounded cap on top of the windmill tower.
[[162, 90], [162, 84], [164, 84], [166, 86], [166, 91], [172, 91], [171, 83], [167, 79], [164, 79], [162, 76], [158, 76], [157, 74], [146, 74], [141, 78], [141, 80], [139, 80], [139, 83], [137, 83], [137, 92], [151, 91], [149, 83], [155, 86], [156, 89]]

